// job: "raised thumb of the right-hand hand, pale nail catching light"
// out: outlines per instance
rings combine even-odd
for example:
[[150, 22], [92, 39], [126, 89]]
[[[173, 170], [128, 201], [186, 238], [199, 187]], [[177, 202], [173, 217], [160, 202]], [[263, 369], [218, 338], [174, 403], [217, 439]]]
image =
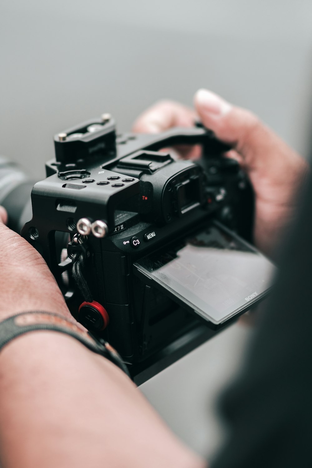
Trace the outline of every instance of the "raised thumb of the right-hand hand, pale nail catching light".
[[205, 127], [233, 146], [251, 176], [254, 171], [257, 176], [276, 171], [299, 157], [248, 110], [235, 107], [206, 89], [199, 89], [194, 101]]

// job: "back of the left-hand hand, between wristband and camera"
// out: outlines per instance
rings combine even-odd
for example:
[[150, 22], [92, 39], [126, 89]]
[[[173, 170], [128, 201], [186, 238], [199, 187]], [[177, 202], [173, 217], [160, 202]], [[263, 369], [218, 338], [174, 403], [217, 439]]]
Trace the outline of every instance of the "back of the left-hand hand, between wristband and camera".
[[0, 206], [0, 321], [19, 312], [71, 314], [43, 257], [4, 223]]

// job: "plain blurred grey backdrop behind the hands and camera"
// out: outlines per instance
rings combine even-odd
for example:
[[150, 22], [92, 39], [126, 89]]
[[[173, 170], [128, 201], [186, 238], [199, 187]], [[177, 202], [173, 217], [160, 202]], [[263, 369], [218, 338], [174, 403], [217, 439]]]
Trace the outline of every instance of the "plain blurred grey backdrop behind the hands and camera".
[[[307, 154], [312, 124], [311, 0], [2, 0], [0, 153], [35, 178], [52, 135], [102, 112], [121, 132], [160, 98], [207, 87]], [[251, 331], [236, 324], [141, 389], [197, 452], [223, 433], [215, 398]]]

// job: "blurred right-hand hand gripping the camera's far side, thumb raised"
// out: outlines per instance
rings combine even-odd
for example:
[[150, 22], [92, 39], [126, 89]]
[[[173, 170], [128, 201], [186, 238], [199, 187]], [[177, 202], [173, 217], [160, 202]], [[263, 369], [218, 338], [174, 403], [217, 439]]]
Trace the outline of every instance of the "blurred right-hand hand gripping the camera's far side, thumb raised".
[[[202, 123], [234, 148], [228, 156], [237, 159], [250, 177], [256, 197], [254, 241], [274, 257], [281, 234], [296, 213], [307, 162], [248, 110], [205, 89], [197, 91], [194, 102]], [[133, 131], [156, 133], [191, 126], [195, 116], [181, 104], [162, 101], [138, 118]]]

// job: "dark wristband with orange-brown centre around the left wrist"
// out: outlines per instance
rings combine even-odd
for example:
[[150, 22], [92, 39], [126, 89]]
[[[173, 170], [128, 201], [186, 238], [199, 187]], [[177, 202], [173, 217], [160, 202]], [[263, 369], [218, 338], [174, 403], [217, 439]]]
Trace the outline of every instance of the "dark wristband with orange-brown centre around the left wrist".
[[50, 312], [22, 312], [0, 322], [0, 351], [10, 341], [30, 331], [51, 330], [73, 336], [91, 351], [109, 359], [113, 364], [123, 370], [128, 376], [129, 372], [117, 351], [104, 340], [80, 329], [75, 323], [62, 315]]

